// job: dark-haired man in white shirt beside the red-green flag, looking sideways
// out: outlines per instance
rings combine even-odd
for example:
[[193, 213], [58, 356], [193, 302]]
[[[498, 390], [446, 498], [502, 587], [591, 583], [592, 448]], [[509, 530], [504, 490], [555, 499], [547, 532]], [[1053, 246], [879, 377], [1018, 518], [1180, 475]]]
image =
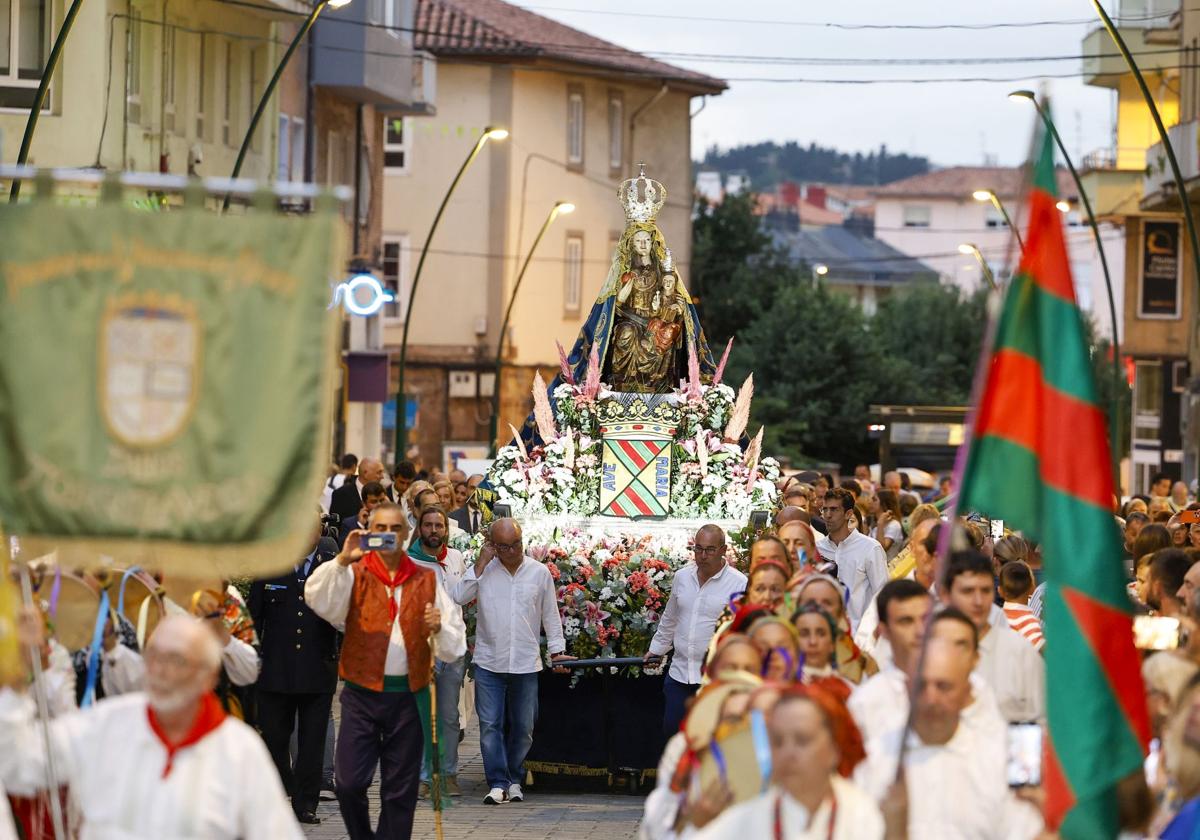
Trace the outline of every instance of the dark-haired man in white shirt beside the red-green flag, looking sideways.
[[998, 611], [1001, 620], [994, 620], [991, 560], [977, 551], [954, 552], [940, 590], [946, 604], [974, 622], [979, 631], [976, 672], [991, 686], [1004, 719], [1013, 724], [1044, 720], [1045, 662], [1032, 644], [1013, 632], [1003, 611]]

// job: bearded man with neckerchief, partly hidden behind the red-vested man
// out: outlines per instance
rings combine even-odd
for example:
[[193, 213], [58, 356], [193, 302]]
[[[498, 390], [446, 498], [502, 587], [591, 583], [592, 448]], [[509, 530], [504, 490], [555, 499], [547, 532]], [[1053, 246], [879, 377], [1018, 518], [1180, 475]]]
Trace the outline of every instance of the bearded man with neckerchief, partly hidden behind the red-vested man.
[[[446, 545], [450, 520], [440, 505], [430, 505], [421, 511], [416, 539], [408, 553], [418, 565], [438, 576], [438, 583], [457, 604], [458, 589], [467, 574], [462, 552]], [[462, 607], [458, 606], [458, 616]], [[442, 784], [449, 796], [462, 796], [458, 788], [458, 695], [467, 676], [467, 655], [452, 662], [436, 662], [433, 682], [438, 689], [438, 752], [440, 756]], [[428, 794], [430, 756], [421, 764], [421, 790], [419, 798]]]

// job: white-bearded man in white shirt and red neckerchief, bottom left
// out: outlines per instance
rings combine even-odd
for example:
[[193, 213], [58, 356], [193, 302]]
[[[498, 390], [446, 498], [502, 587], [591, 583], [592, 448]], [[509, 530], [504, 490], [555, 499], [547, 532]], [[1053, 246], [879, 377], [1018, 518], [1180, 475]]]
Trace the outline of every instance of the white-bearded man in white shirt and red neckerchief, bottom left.
[[[22, 641], [42, 624], [23, 614]], [[302, 834], [280, 776], [252, 728], [227, 718], [212, 692], [221, 648], [188, 616], [163, 619], [145, 649], [146, 690], [49, 724], [54, 767], [83, 815], [80, 838], [173, 840]], [[46, 786], [46, 748], [32, 700], [0, 690], [0, 782]]]

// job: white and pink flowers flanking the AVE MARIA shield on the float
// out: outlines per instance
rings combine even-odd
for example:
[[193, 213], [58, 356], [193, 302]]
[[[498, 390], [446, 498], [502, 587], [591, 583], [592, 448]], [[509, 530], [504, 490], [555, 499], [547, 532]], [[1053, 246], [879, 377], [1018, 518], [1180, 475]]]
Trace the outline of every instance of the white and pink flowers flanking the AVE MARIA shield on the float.
[[[762, 430], [745, 450], [739, 443], [750, 419], [754, 378], [737, 394], [721, 383], [728, 352], [726, 347], [710, 384], [701, 382], [692, 352], [688, 379], [668, 397], [679, 416], [672, 517], [745, 521], [751, 511], [775, 504], [780, 469], [774, 458], [761, 457]], [[500, 449], [492, 464], [498, 500], [516, 516], [600, 512], [600, 414], [613, 394], [600, 382], [595, 350], [583, 383], [575, 382], [565, 360], [563, 374], [553, 407], [541, 376], [534, 378], [534, 419], [544, 443], [527, 449], [514, 430], [514, 443]]]

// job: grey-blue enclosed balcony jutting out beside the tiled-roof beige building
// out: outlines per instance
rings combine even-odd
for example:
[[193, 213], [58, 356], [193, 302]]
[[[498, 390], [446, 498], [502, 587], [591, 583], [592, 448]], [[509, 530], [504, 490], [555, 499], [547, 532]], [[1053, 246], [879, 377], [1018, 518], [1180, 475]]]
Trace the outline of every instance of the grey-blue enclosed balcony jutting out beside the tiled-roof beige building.
[[[392, 114], [434, 112], [437, 60], [413, 49], [412, 32], [370, 25], [371, 4], [340, 8], [313, 26], [313, 82], [338, 96]], [[398, 24], [412, 28], [412, 20]]]

